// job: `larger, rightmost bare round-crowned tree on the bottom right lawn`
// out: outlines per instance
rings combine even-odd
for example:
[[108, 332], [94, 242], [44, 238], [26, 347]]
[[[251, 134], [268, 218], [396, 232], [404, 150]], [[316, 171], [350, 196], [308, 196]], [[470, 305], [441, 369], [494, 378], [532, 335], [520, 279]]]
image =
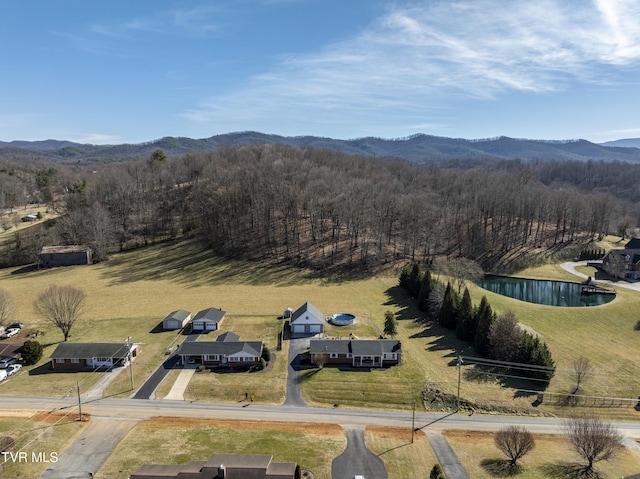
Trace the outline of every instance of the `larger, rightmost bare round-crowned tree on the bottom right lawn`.
[[611, 423], [597, 418], [567, 419], [564, 432], [573, 450], [586, 462], [580, 471], [586, 477], [596, 475], [596, 462], [612, 459], [623, 448], [622, 434]]

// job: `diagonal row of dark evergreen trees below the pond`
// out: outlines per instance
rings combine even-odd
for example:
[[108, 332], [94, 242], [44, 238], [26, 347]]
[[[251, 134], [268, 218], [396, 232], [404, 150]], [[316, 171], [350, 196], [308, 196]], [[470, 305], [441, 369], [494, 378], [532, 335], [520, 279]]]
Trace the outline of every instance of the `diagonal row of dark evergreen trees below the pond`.
[[538, 336], [523, 331], [515, 315], [508, 311], [498, 316], [486, 296], [474, 306], [468, 288], [462, 295], [434, 278], [420, 266], [402, 269], [400, 286], [416, 298], [418, 309], [427, 317], [452, 331], [462, 341], [473, 343], [479, 356], [508, 363], [517, 374], [541, 380], [545, 387], [555, 373], [555, 363], [547, 344]]

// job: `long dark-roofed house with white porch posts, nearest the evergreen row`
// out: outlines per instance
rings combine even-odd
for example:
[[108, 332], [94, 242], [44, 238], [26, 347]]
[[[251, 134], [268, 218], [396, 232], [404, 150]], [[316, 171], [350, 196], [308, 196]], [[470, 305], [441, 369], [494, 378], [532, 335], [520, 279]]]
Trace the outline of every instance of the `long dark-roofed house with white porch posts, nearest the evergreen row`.
[[309, 354], [322, 366], [380, 368], [400, 364], [402, 348], [396, 339], [312, 339]]

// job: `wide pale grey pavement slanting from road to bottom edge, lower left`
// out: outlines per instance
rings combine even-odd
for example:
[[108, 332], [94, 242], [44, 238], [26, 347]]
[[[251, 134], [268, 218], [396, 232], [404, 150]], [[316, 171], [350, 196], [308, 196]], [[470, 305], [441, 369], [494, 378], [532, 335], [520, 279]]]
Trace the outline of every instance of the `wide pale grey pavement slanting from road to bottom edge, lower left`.
[[93, 477], [113, 449], [138, 423], [135, 419], [92, 418], [87, 428], [69, 445], [58, 461], [40, 475], [40, 479]]

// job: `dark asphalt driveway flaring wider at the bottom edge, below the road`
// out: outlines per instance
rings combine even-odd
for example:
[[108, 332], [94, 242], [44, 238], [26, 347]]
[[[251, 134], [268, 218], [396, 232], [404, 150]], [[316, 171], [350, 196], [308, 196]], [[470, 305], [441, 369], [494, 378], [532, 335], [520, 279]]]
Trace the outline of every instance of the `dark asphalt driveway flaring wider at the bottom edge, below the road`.
[[384, 462], [364, 444], [364, 429], [363, 426], [344, 426], [347, 448], [331, 463], [332, 479], [353, 479], [358, 474], [365, 479], [387, 479]]

